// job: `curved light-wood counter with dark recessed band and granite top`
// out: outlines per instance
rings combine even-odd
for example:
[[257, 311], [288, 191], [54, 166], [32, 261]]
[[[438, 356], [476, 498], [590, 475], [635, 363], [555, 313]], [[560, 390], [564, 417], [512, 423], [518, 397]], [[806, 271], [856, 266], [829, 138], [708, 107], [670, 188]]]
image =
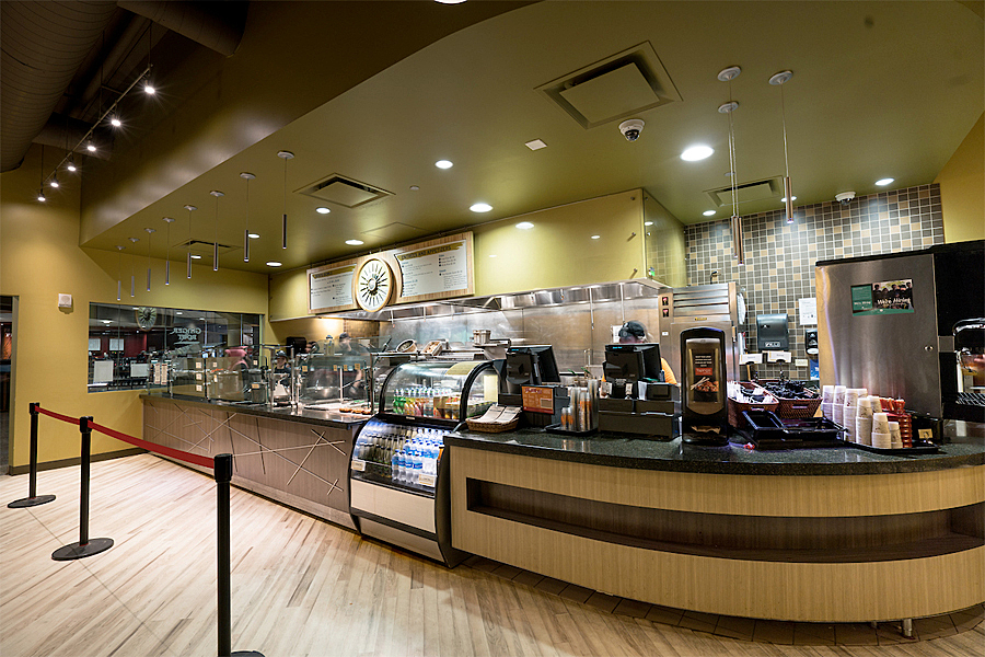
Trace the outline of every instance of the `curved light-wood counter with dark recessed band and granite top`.
[[985, 445], [762, 452], [538, 429], [451, 434], [452, 545], [590, 589], [812, 622], [985, 599]]

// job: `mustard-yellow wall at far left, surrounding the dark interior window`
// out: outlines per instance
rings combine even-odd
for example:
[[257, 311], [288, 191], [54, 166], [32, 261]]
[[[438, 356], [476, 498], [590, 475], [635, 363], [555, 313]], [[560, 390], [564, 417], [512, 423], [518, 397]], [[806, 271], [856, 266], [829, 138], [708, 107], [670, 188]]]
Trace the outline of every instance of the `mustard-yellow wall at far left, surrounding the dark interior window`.
[[[142, 411], [139, 391], [89, 393], [89, 303], [116, 303], [117, 255], [79, 247], [78, 181], [63, 181], [39, 204], [39, 148], [33, 147], [24, 164], [0, 176], [0, 293], [18, 298], [11, 399], [10, 463], [28, 461], [27, 404], [73, 417], [92, 415], [95, 422], [140, 436]], [[161, 239], [161, 232], [155, 233]], [[137, 235], [135, 235], [137, 237]], [[147, 234], [139, 235], [140, 244]], [[140, 252], [140, 245], [136, 247]], [[144, 291], [147, 258], [123, 256], [123, 303], [267, 314], [267, 276], [196, 266], [185, 278], [184, 263], [172, 263], [165, 287], [163, 261], [151, 261], [151, 292]], [[137, 273], [137, 296], [129, 297], [131, 267]], [[143, 284], [143, 285], [141, 285]], [[58, 309], [58, 295], [72, 295], [72, 309]], [[264, 335], [270, 335], [268, 323]], [[79, 429], [48, 417], [39, 418], [38, 461], [79, 457]], [[93, 435], [93, 453], [130, 446]]]

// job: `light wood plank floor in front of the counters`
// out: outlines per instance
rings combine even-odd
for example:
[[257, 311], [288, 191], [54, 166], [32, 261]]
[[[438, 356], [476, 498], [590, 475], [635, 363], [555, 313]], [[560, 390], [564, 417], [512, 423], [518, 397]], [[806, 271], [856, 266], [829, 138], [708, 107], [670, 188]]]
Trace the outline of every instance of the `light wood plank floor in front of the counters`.
[[[0, 477], [0, 655], [216, 655], [212, 480], [149, 454], [94, 463], [92, 473], [90, 535], [116, 544], [76, 562], [50, 554], [78, 540], [79, 469], [42, 472], [38, 493], [58, 498], [31, 509], [5, 506], [26, 495], [27, 477]], [[814, 645], [732, 639], [722, 619], [710, 629], [694, 615], [664, 624], [578, 602], [509, 567], [449, 570], [236, 489], [232, 537], [233, 649], [267, 657], [985, 655], [981, 609], [963, 627], [917, 621], [925, 637], [943, 635], [919, 642], [885, 627], [807, 624], [789, 624], [791, 641], [778, 643]], [[732, 621], [734, 636], [756, 633], [742, 621]], [[839, 632], [876, 645], [825, 645]]]

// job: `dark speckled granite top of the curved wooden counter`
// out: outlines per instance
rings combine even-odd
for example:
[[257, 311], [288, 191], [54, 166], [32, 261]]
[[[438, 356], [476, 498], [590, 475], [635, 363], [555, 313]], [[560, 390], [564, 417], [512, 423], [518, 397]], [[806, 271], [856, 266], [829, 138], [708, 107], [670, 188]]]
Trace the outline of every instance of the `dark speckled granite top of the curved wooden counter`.
[[[935, 454], [880, 454], [845, 445], [783, 451], [750, 450], [741, 445], [705, 447], [598, 434], [573, 438], [526, 428], [503, 434], [463, 430], [445, 445], [613, 468], [710, 474], [850, 475], [926, 472], [985, 464], [985, 438], [958, 437]], [[454, 457], [452, 457], [454, 458]]]

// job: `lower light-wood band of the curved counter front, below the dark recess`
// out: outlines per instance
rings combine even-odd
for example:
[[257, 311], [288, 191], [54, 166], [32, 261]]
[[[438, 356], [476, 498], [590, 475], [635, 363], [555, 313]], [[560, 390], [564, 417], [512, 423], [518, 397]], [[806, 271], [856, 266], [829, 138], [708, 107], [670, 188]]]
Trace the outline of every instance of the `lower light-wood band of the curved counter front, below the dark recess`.
[[985, 548], [862, 564], [739, 561], [616, 545], [457, 507], [452, 512], [457, 549], [679, 609], [786, 621], [864, 622], [936, 615], [985, 599]]

